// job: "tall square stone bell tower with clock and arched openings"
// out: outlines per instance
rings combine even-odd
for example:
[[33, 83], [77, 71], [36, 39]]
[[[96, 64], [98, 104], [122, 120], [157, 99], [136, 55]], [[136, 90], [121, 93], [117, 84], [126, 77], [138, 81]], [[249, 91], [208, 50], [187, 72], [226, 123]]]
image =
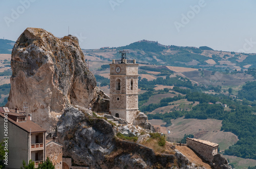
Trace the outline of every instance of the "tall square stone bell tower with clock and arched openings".
[[110, 64], [110, 113], [132, 123], [138, 111], [138, 66], [126, 60], [127, 51], [119, 51], [121, 60]]

